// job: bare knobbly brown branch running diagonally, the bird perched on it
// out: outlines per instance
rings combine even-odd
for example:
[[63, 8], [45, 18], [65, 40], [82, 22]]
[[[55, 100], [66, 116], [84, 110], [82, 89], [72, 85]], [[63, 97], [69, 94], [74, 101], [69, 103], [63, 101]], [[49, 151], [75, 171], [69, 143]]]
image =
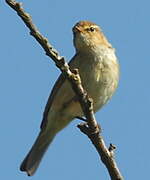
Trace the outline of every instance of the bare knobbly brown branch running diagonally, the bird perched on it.
[[123, 180], [123, 177], [117, 167], [113, 155], [115, 147], [113, 145], [110, 145], [108, 149], [103, 141], [102, 136], [100, 136], [101, 128], [100, 125], [98, 125], [94, 116], [93, 100], [88, 97], [86, 91], [83, 89], [78, 70], [70, 70], [64, 57], [59, 56], [59, 53], [52, 47], [48, 40], [41, 35], [37, 27], [33, 24], [30, 15], [26, 13], [22, 8], [21, 3], [13, 0], [6, 0], [6, 3], [17, 12], [17, 14], [29, 28], [30, 34], [39, 42], [41, 47], [45, 50], [46, 55], [55, 62], [56, 66], [61, 70], [62, 73], [64, 73], [66, 78], [70, 81], [73, 90], [78, 96], [79, 102], [87, 120], [87, 123], [79, 124], [78, 128], [81, 130], [81, 132], [86, 134], [94, 144], [96, 150], [101, 157], [102, 162], [108, 169], [111, 179]]

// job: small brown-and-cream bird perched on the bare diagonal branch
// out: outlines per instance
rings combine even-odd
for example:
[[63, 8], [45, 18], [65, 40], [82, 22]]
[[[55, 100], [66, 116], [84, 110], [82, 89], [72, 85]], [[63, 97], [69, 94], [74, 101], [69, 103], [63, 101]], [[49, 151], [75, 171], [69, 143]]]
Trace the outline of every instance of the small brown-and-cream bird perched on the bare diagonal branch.
[[[83, 88], [93, 99], [94, 113], [105, 105], [118, 87], [120, 68], [115, 49], [101, 28], [91, 21], [79, 21], [72, 28], [75, 55], [70, 69], [78, 69]], [[70, 82], [61, 74], [48, 98], [40, 132], [20, 170], [32, 176], [58, 132], [84, 113]]]

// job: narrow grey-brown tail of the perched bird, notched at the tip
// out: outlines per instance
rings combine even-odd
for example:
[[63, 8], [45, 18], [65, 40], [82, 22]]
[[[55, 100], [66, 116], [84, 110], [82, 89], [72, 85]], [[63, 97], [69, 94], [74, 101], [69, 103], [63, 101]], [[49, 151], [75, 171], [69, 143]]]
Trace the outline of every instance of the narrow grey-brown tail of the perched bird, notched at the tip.
[[50, 132], [40, 132], [31, 150], [23, 160], [20, 170], [26, 171], [28, 176], [32, 176], [38, 168], [40, 161], [52, 142], [55, 134]]

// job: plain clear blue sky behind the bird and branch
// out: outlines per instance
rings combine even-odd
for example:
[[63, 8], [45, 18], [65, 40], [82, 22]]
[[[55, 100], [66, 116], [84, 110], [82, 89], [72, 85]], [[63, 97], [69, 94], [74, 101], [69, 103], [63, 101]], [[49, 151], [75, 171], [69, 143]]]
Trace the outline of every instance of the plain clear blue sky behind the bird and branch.
[[[51, 44], [71, 59], [72, 26], [90, 20], [116, 48], [119, 88], [96, 114], [107, 145], [126, 180], [150, 179], [150, 2], [148, 0], [22, 0], [33, 22]], [[19, 171], [42, 120], [60, 71], [29, 35], [5, 1], [0, 3], [0, 179], [109, 180], [88, 138], [73, 121], [48, 149], [33, 177]]]

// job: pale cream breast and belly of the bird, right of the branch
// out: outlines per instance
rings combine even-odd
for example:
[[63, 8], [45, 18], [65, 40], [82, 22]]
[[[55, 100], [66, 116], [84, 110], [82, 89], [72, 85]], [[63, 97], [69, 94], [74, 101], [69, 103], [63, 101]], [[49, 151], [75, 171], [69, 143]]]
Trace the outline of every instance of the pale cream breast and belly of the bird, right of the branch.
[[[111, 54], [112, 53], [112, 54]], [[83, 87], [94, 101], [94, 111], [101, 108], [115, 92], [119, 81], [119, 65], [114, 52], [87, 59], [80, 69]], [[86, 69], [85, 69], [86, 68]]]

